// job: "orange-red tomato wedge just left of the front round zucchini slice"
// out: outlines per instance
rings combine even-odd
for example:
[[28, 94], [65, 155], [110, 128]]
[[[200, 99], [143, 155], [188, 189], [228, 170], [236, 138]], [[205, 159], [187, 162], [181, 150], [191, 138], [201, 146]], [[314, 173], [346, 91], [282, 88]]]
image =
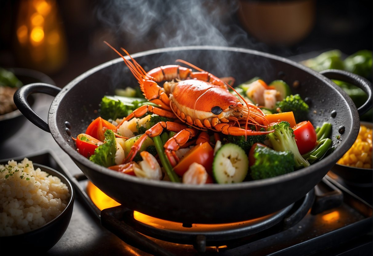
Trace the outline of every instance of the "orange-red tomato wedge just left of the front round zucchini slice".
[[196, 162], [203, 165], [209, 175], [212, 175], [212, 162], [214, 160], [214, 149], [208, 142], [201, 143], [185, 154], [180, 162], [173, 168], [179, 176], [188, 171], [189, 166]]

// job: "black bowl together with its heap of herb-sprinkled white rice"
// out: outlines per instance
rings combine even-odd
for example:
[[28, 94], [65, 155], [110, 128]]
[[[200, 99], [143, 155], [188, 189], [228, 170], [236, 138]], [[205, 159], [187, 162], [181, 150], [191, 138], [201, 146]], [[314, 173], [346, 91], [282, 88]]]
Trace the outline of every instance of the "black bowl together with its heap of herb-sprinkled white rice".
[[28, 158], [0, 162], [0, 248], [48, 251], [65, 233], [74, 199], [60, 172]]

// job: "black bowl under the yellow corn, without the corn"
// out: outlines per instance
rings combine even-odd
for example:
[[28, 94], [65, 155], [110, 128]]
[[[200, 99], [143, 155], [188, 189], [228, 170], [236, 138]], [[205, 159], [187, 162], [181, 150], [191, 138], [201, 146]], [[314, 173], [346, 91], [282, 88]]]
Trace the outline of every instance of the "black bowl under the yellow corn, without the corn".
[[[372, 129], [373, 124], [370, 122], [360, 122], [360, 124]], [[357, 186], [373, 185], [373, 169], [358, 168], [336, 163], [331, 171], [341, 177], [347, 184]]]

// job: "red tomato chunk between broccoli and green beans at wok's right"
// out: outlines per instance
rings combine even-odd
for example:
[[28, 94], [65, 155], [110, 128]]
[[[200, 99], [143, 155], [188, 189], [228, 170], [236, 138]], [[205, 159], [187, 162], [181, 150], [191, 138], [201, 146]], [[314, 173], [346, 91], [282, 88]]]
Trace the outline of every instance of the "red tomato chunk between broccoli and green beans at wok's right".
[[297, 143], [299, 153], [305, 154], [314, 148], [317, 136], [315, 128], [313, 128], [310, 121], [300, 122], [292, 129], [294, 130], [295, 142]]

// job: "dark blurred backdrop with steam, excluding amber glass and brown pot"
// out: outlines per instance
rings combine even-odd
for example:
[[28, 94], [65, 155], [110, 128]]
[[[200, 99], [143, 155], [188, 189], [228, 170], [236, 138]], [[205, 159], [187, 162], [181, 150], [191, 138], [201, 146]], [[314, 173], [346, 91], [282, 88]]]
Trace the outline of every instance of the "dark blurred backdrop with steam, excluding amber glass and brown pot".
[[[33, 68], [32, 63], [21, 61], [22, 56], [17, 56], [15, 47], [17, 13], [25, 1], [0, 3], [1, 67]], [[339, 49], [346, 55], [362, 49], [372, 50], [370, 0], [315, 0], [313, 28], [303, 40], [291, 45], [267, 44], [245, 31], [238, 17], [238, 1], [133, 2], [136, 3], [57, 1], [59, 22], [66, 34], [66, 62], [53, 72], [40, 68], [39, 71], [63, 87], [88, 69], [117, 57], [104, 40], [130, 53], [197, 44], [244, 47], [284, 57], [330, 49]], [[289, 1], [266, 2], [283, 4]]]

